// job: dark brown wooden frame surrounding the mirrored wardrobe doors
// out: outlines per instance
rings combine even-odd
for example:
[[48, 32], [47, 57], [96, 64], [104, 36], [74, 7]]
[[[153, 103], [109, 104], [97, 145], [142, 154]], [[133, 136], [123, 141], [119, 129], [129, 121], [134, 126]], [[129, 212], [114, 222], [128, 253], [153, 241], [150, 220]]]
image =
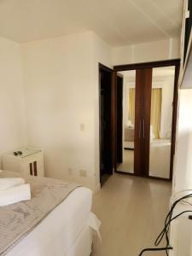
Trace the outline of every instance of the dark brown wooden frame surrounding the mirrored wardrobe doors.
[[[175, 144], [176, 144], [176, 128], [177, 128], [177, 98], [178, 98], [178, 75], [180, 68], [180, 59], [172, 59], [165, 61], [151, 61], [151, 62], [141, 62], [134, 64], [125, 64], [118, 65], [113, 67], [113, 167], [114, 171], [117, 172], [117, 163], [116, 163], [116, 155], [117, 155], [117, 112], [115, 111], [114, 106], [116, 106], [116, 97], [117, 97], [117, 73], [120, 71], [128, 71], [128, 70], [136, 70], [142, 68], [154, 68], [154, 67], [170, 67], [175, 66], [175, 79], [174, 79], [174, 93], [173, 93], [173, 106], [172, 106], [172, 147], [171, 147], [171, 160], [170, 160], [170, 177], [162, 178], [162, 177], [151, 177], [156, 179], [163, 179], [172, 181], [172, 172], [173, 172], [173, 160], [175, 154]], [[131, 174], [127, 173], [126, 174]], [[136, 174], [131, 174], [136, 175]]]

